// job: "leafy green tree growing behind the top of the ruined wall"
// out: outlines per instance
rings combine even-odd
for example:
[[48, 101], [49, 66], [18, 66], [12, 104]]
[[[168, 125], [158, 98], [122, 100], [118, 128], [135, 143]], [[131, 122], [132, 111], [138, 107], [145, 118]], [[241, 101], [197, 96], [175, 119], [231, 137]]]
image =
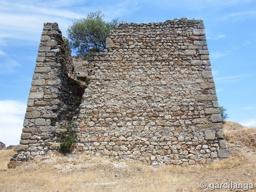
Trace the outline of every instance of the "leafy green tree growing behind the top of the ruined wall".
[[120, 22], [118, 19], [106, 22], [104, 17], [99, 10], [80, 20], [72, 20], [73, 24], [68, 27], [67, 33], [69, 46], [77, 56], [84, 56], [86, 59], [93, 52], [106, 48], [106, 38], [110, 30], [115, 29]]

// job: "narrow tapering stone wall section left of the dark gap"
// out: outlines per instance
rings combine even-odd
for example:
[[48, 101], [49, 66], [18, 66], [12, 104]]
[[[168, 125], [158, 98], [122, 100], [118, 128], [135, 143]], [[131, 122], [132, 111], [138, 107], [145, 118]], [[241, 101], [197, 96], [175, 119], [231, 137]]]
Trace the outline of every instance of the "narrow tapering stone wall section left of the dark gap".
[[76, 113], [85, 85], [76, 81], [67, 39], [57, 23], [44, 23], [33, 80], [28, 96], [18, 155], [20, 161], [58, 148], [56, 135]]

